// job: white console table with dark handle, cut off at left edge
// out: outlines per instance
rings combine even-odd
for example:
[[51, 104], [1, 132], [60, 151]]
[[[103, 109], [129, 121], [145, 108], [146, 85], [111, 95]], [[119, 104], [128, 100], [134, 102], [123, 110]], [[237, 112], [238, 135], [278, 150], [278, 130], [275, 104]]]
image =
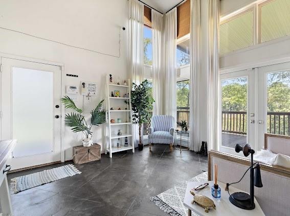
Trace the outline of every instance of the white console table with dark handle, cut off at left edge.
[[0, 204], [4, 215], [12, 215], [9, 187], [7, 182], [7, 172], [11, 169], [12, 151], [16, 145], [16, 140], [0, 141]]

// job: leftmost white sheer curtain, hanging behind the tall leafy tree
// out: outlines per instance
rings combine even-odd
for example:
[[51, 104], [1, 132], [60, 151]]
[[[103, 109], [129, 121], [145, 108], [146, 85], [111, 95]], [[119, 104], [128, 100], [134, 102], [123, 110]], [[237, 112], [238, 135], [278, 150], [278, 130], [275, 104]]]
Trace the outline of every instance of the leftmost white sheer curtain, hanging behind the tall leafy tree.
[[[143, 81], [143, 17], [144, 5], [137, 0], [129, 0], [129, 77], [139, 84]], [[139, 143], [138, 125], [135, 125], [133, 140]], [[142, 136], [143, 137], [143, 136]]]

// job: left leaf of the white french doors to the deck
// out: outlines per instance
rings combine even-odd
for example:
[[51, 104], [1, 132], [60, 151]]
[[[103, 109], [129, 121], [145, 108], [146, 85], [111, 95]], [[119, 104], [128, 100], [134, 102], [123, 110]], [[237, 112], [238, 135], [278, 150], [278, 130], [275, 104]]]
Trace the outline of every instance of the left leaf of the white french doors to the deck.
[[[221, 130], [219, 150], [230, 154], [235, 145], [255, 143], [255, 71], [220, 75]], [[242, 156], [242, 154], [238, 154]]]

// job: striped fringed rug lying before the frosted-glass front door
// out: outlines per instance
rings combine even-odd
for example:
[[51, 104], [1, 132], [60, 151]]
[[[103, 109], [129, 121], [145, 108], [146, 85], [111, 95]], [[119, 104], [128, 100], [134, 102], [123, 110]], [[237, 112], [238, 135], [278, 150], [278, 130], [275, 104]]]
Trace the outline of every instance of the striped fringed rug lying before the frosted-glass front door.
[[63, 179], [69, 176], [81, 174], [73, 164], [59, 166], [50, 170], [44, 170], [38, 173], [32, 173], [26, 176], [19, 176], [11, 179], [13, 185], [13, 193], [17, 194], [20, 191], [27, 190], [42, 184]]

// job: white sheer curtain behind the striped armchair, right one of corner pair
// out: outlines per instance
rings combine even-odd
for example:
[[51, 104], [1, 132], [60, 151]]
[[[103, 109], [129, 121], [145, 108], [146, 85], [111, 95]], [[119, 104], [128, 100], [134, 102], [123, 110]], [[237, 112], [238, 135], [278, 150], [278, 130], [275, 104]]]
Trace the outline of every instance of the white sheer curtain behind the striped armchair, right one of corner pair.
[[164, 62], [164, 113], [172, 115], [176, 122], [176, 8], [166, 14], [165, 62]]

